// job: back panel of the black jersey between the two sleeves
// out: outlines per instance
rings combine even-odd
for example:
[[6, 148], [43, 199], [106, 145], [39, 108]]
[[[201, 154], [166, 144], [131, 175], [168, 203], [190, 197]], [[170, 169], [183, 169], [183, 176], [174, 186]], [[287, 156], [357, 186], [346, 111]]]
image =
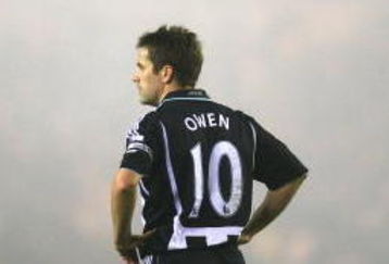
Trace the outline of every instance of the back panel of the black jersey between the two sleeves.
[[159, 139], [141, 185], [146, 229], [171, 229], [170, 250], [236, 241], [251, 210], [250, 125], [202, 90], [172, 92], [150, 115]]

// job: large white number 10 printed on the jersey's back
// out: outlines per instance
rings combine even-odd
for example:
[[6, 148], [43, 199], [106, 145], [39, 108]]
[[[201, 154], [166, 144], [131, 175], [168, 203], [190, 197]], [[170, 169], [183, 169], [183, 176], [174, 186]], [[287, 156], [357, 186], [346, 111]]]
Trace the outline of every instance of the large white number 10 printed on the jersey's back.
[[[202, 166], [201, 144], [197, 143], [190, 153], [195, 165], [195, 204], [189, 217], [198, 217], [204, 196], [204, 174]], [[226, 156], [229, 161], [231, 172], [230, 197], [225, 201], [221, 191], [219, 165], [222, 158]], [[234, 215], [240, 205], [242, 197], [242, 169], [238, 150], [228, 141], [217, 142], [212, 151], [209, 164], [208, 186], [210, 201], [215, 212], [223, 217]]]

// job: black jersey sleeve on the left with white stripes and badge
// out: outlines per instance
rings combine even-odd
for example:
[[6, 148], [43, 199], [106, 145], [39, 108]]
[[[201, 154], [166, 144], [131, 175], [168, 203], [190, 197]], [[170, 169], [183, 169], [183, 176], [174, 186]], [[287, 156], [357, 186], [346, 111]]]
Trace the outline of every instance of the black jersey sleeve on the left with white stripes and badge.
[[155, 113], [151, 112], [128, 129], [121, 167], [149, 175], [158, 153], [158, 120]]

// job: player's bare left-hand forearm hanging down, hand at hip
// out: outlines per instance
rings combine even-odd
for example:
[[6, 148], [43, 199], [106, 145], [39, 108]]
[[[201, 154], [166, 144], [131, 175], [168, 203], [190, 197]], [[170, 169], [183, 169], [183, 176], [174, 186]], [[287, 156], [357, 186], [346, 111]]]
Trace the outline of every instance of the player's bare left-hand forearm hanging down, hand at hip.
[[138, 173], [121, 168], [112, 183], [111, 214], [116, 250], [122, 256], [133, 255], [135, 247], [141, 244], [152, 231], [133, 235], [131, 223], [136, 205], [137, 186], [141, 178]]

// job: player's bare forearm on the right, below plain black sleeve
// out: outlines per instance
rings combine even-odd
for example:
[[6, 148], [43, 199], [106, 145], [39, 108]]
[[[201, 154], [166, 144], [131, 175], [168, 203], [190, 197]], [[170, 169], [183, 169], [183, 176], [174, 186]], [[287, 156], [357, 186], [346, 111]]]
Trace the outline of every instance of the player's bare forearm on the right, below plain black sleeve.
[[304, 174], [276, 190], [268, 190], [264, 201], [243, 228], [238, 243], [250, 242], [254, 235], [272, 223], [288, 205], [305, 178]]

